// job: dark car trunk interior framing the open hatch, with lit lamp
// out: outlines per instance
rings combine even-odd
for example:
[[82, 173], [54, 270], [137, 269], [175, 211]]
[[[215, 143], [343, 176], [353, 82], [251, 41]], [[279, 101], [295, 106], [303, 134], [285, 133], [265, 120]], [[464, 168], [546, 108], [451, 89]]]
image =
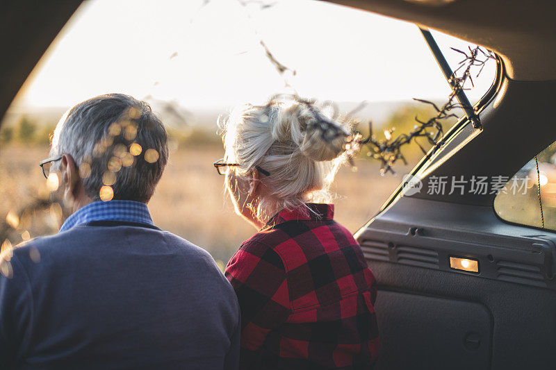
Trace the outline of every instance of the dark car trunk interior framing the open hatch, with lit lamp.
[[[542, 212], [547, 193], [541, 194], [539, 165], [525, 166], [534, 166], [531, 161], [556, 140], [556, 5], [330, 2], [496, 53], [495, 81], [473, 107], [480, 128], [461, 117], [411, 171], [423, 190], [408, 192], [400, 184], [355, 235], [379, 288], [376, 369], [553, 369], [556, 232], [545, 227], [553, 215]], [[3, 6], [0, 38], [10, 53], [0, 58], [0, 117], [80, 4], [24, 0]], [[532, 181], [534, 221], [520, 221], [516, 207], [508, 211], [514, 217], [501, 214], [496, 192], [426, 191], [439, 178], [502, 176], [506, 182], [524, 168]]]

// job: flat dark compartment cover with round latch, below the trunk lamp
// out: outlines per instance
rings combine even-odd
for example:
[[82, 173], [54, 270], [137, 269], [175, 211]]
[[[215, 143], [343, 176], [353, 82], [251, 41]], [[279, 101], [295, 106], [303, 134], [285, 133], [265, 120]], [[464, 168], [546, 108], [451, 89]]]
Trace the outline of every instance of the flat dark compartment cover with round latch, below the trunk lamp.
[[489, 368], [493, 325], [484, 305], [386, 289], [379, 294], [377, 369], [415, 369], [425, 362], [427, 369]]

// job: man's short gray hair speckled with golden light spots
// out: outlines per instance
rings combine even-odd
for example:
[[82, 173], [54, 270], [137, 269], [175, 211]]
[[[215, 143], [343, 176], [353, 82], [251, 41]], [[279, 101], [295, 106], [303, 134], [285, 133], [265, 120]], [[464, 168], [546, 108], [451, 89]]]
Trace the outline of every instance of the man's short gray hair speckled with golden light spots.
[[167, 163], [167, 133], [151, 107], [129, 95], [105, 94], [83, 101], [62, 117], [51, 156], [72, 155], [93, 201], [110, 199], [147, 203]]

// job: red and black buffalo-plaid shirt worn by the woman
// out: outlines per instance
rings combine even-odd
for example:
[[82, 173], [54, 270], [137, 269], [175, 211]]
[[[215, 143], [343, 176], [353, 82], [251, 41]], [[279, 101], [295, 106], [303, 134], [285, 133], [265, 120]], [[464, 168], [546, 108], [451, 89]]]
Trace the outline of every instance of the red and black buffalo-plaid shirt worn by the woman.
[[283, 210], [243, 243], [226, 276], [241, 308], [242, 369], [369, 369], [377, 289], [334, 205]]

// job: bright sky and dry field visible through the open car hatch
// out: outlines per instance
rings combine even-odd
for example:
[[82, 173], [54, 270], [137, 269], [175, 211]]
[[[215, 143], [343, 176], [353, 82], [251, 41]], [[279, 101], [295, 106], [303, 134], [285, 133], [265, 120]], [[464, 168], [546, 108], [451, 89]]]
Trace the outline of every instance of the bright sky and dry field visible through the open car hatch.
[[[433, 34], [452, 68], [461, 58], [450, 47], [474, 47]], [[288, 67], [284, 76], [263, 45]], [[495, 73], [491, 63], [475, 78], [473, 103]], [[372, 119], [379, 136], [391, 126], [393, 135], [405, 133], [416, 115], [434, 114], [412, 98], [443, 103], [450, 94], [416, 25], [370, 12], [320, 1], [85, 1], [3, 118], [0, 243], [57, 232], [65, 215], [50, 203], [53, 184], [38, 167], [49, 156], [54, 126], [75, 103], [122, 92], [149, 102], [171, 136], [170, 164], [149, 203], [154, 221], [226, 261], [254, 229], [234, 214], [212, 166], [223, 152], [217, 119], [292, 88], [334, 101], [343, 113], [366, 101], [354, 116], [363, 133]], [[366, 154], [356, 158], [357, 168], [341, 169], [334, 185], [336, 219], [352, 232], [423, 156], [407, 146], [408, 164], [380, 176]]]

